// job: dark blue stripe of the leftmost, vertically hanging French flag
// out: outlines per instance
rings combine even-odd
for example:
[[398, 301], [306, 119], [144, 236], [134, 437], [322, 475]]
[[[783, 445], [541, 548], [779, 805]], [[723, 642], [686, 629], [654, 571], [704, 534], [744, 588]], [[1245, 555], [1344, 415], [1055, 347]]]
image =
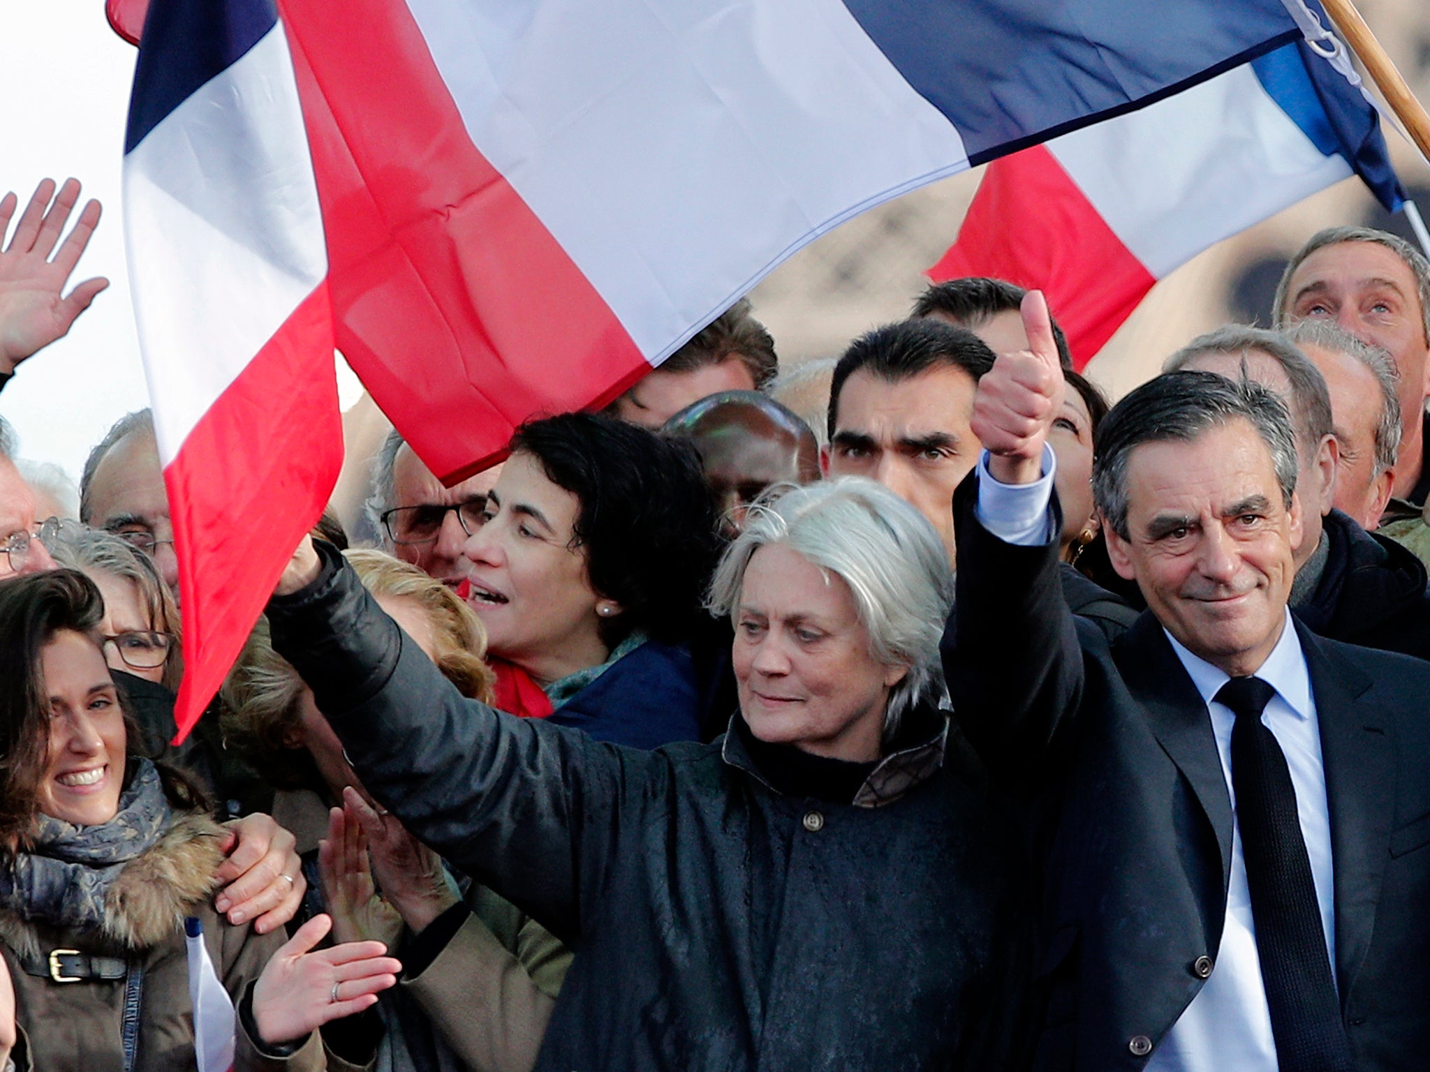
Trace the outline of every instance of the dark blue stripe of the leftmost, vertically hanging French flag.
[[154, 0], [144, 20], [124, 152], [277, 24], [273, 0]]

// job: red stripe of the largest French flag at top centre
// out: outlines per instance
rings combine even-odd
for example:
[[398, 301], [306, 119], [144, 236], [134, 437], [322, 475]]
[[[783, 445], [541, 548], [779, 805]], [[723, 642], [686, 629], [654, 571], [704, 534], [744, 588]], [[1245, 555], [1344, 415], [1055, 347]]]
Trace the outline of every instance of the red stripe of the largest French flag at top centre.
[[478, 472], [528, 416], [601, 405], [649, 370], [472, 143], [406, 4], [283, 0], [280, 11], [337, 346], [435, 473]]

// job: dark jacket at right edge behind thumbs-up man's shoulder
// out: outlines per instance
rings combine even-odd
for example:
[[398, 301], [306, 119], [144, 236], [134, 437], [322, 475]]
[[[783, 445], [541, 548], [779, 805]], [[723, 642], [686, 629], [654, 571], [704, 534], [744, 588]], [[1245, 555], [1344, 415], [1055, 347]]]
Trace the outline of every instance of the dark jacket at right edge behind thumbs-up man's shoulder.
[[1426, 567], [1340, 510], [1326, 515], [1327, 557], [1310, 599], [1294, 607], [1313, 633], [1430, 659]]

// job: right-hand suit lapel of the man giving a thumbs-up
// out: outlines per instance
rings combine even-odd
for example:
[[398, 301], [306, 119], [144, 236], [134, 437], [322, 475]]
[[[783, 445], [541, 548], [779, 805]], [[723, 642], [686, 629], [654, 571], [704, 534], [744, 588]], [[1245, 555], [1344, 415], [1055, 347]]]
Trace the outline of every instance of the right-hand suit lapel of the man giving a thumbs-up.
[[1341, 1002], [1370, 946], [1396, 808], [1396, 756], [1369, 675], [1297, 623], [1316, 698], [1336, 868], [1336, 978]]

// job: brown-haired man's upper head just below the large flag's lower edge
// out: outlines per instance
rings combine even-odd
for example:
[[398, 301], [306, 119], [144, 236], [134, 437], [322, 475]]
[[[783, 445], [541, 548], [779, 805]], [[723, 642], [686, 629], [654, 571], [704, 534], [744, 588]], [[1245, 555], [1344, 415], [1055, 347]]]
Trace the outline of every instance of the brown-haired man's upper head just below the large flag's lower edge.
[[779, 372], [775, 340], [742, 297], [606, 407], [652, 432], [692, 402], [722, 390], [764, 390]]

